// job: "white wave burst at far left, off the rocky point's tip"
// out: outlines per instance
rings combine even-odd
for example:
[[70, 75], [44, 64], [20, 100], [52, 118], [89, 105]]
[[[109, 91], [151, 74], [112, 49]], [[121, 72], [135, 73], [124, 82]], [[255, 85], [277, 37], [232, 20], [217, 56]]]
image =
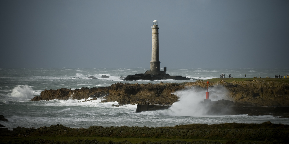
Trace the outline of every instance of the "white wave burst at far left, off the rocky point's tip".
[[33, 96], [33, 90], [27, 85], [19, 85], [13, 88], [11, 96], [12, 99], [29, 99]]

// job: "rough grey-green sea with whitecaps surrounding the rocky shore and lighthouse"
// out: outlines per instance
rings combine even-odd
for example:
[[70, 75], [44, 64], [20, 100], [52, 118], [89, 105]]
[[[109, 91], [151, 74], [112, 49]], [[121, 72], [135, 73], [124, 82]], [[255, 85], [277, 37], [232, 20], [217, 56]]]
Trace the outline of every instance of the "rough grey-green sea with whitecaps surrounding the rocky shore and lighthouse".
[[[25, 128], [39, 128], [62, 124], [71, 128], [89, 128], [90, 126], [147, 126], [164, 127], [185, 124], [221, 124], [221, 123], [263, 123], [271, 121], [278, 124], [289, 124], [289, 118], [279, 118], [271, 115], [205, 115], [198, 103], [205, 99], [205, 91], [195, 88], [177, 91], [179, 101], [170, 109], [144, 111], [136, 113], [136, 105], [118, 105], [117, 101], [101, 103], [102, 98], [93, 101], [84, 100], [50, 100], [30, 101], [40, 92], [50, 89], [82, 87], [105, 87], [117, 82], [131, 84], [158, 84], [195, 82], [196, 80], [155, 80], [155, 81], [123, 81], [121, 77], [144, 73], [147, 68], [27, 68], [0, 69], [0, 115], [8, 122], [0, 124], [10, 130], [18, 126]], [[170, 75], [182, 75], [194, 79], [220, 78], [230, 74], [235, 78], [275, 77], [288, 75], [289, 69], [167, 69]], [[102, 75], [109, 78], [102, 78]], [[94, 76], [97, 79], [88, 79]], [[220, 79], [221, 80], [221, 79]], [[225, 88], [216, 87], [212, 91], [212, 100], [226, 99]], [[215, 94], [214, 94], [215, 93]]]

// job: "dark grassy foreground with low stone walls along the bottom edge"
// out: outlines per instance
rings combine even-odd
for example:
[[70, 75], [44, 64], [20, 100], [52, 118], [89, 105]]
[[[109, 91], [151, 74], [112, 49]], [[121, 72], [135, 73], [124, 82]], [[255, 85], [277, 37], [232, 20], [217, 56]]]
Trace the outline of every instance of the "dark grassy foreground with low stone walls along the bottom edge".
[[[0, 128], [0, 143], [49, 143], [49, 144], [213, 144], [213, 143], [288, 143], [289, 125], [272, 124], [190, 124], [174, 127], [102, 127], [69, 128], [63, 125], [51, 125], [40, 128]], [[39, 139], [37, 137], [60, 137], [63, 141]], [[89, 137], [90, 139], [79, 139]], [[97, 141], [98, 138], [106, 141]], [[121, 138], [123, 141], [111, 141], [112, 138]], [[146, 139], [146, 141], [143, 141]], [[150, 139], [150, 140], [147, 140]], [[168, 139], [158, 141], [158, 139]]]

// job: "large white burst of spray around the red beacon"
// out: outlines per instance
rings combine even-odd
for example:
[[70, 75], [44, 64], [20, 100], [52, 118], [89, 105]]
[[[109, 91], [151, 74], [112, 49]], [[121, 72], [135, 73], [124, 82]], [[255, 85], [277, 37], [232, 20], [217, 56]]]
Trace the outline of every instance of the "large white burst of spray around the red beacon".
[[[204, 105], [202, 101], [205, 99], [205, 92], [207, 90], [200, 87], [187, 88], [185, 90], [177, 91], [179, 101], [175, 102], [170, 110], [173, 116], [205, 116], [210, 107]], [[229, 99], [228, 91], [221, 85], [216, 85], [209, 88], [210, 99], [217, 101], [220, 99]]]

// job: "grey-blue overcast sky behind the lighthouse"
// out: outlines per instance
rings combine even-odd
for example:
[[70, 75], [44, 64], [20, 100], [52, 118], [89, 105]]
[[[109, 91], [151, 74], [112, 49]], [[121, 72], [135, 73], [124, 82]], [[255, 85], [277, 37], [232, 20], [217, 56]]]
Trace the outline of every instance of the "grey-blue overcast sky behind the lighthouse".
[[288, 0], [1, 0], [0, 68], [289, 68]]

